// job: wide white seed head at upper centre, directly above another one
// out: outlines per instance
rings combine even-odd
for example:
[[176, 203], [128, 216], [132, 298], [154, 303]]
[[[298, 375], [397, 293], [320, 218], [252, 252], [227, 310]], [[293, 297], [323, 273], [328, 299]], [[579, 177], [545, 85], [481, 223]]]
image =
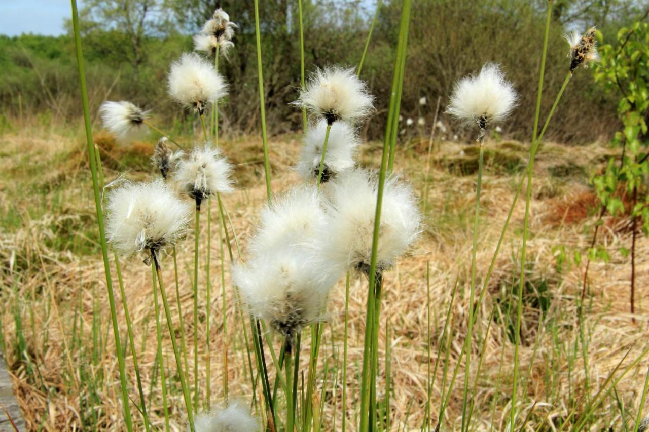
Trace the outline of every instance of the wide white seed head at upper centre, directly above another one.
[[329, 123], [337, 120], [353, 123], [372, 112], [373, 100], [365, 82], [356, 77], [353, 68], [334, 66], [317, 69], [293, 104], [306, 108]]

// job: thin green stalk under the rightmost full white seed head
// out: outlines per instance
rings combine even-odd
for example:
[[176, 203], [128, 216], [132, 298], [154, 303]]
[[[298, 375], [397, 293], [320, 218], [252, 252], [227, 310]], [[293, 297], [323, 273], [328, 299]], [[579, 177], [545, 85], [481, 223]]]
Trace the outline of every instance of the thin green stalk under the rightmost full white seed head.
[[478, 252], [478, 229], [480, 228], [480, 192], [482, 191], [482, 165], [485, 153], [485, 130], [480, 130], [480, 155], [478, 156], [478, 184], [476, 186], [476, 212], [473, 217], [473, 248], [471, 252], [471, 288], [469, 292], [469, 329], [467, 330], [467, 361], [464, 374], [464, 396], [462, 403], [462, 430], [465, 430], [467, 420], [467, 407], [471, 402], [467, 401], [469, 394], [469, 376], [471, 372], [471, 341], [473, 337], [473, 304], [476, 298], [476, 253]]

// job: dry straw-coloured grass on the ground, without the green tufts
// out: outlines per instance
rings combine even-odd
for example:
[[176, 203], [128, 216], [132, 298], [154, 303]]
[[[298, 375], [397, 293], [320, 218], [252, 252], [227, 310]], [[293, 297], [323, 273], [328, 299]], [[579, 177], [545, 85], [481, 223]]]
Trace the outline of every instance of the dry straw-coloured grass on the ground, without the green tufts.
[[[93, 376], [104, 376], [106, 385], [98, 389], [101, 407], [97, 407], [100, 429], [121, 429], [121, 411], [119, 405], [119, 374], [117, 359], [114, 355], [114, 342], [110, 330], [110, 315], [107, 307], [107, 296], [101, 258], [97, 254], [97, 245], [93, 237], [93, 203], [89, 193], [89, 177], [80, 156], [80, 146], [70, 144], [67, 136], [49, 134], [42, 136], [5, 136], [0, 138], [1, 152], [0, 172], [10, 173], [0, 176], [0, 207], [3, 211], [15, 208], [19, 224], [13, 227], [5, 225], [0, 237], [2, 259], [0, 297], [6, 307], [0, 315], [5, 339], [6, 357], [14, 379], [14, 389], [21, 409], [31, 430], [42, 427], [44, 430], [79, 429], [82, 411], [88, 403], [88, 386], [80, 376], [81, 366], [90, 370]], [[525, 145], [520, 143], [491, 143], [498, 151], [522, 158]], [[273, 161], [273, 191], [288, 189], [297, 181], [295, 173], [289, 170], [299, 149], [296, 138], [281, 137], [271, 139], [271, 160]], [[467, 157], [460, 155], [466, 146], [460, 143], [441, 143], [435, 150], [433, 169], [430, 177], [428, 197], [429, 214], [421, 241], [413, 248], [411, 254], [402, 258], [397, 267], [386, 274], [384, 285], [384, 303], [382, 317], [389, 322], [391, 336], [391, 424], [403, 430], [420, 429], [424, 422], [424, 406], [428, 398], [427, 374], [428, 363], [437, 357], [440, 337], [445, 324], [445, 314], [451, 298], [452, 289], [458, 280], [458, 295], [452, 307], [450, 322], [450, 365], [449, 376], [457, 363], [461, 344], [463, 343], [467, 324], [468, 280], [471, 263], [471, 228], [470, 213], [474, 202], [474, 176], [449, 174], [445, 161]], [[254, 227], [258, 211], [265, 201], [261, 145], [258, 139], [234, 139], [223, 143], [224, 152], [238, 164], [236, 177], [241, 189], [225, 199], [234, 227], [243, 248], [248, 235]], [[517, 150], [515, 150], [517, 149]], [[366, 145], [360, 160], [363, 163], [374, 163], [380, 156], [377, 144]], [[63, 155], [63, 156], [62, 156]], [[550, 175], [548, 167], [563, 163], [565, 156], [570, 160], [580, 161], [587, 172], [601, 163], [606, 150], [598, 145], [589, 147], [564, 147], [546, 145], [539, 154], [535, 167], [535, 183], [531, 207], [531, 237], [528, 241], [530, 274], [528, 280], [535, 284], [545, 283], [552, 301], [541, 320], [545, 325], [539, 326], [544, 317], [532, 306], [524, 311], [520, 364], [522, 376], [527, 380], [527, 396], [520, 402], [520, 418], [525, 418], [537, 402], [534, 413], [530, 416], [528, 429], [541, 426], [543, 429], [554, 429], [559, 419], [565, 419], [574, 403], [585, 392], [588, 385], [589, 394], [593, 395], [604, 383], [609, 373], [615, 368], [627, 350], [630, 355], [622, 366], [631, 363], [646, 346], [646, 322], [643, 311], [647, 304], [648, 293], [644, 288], [649, 282], [649, 241], [642, 236], [637, 242], [637, 293], [639, 312], [637, 322], [631, 322], [629, 311], [629, 274], [630, 260], [618, 249], [629, 247], [630, 235], [615, 231], [606, 226], [602, 242], [611, 253], [608, 263], [595, 261], [590, 269], [589, 303], [585, 306], [583, 319], [585, 355], [579, 345], [580, 333], [577, 319], [576, 300], [581, 290], [581, 280], [585, 267], [585, 254], [591, 237], [591, 226], [596, 218], [591, 212], [584, 211], [591, 203], [587, 177], [584, 175], [557, 178]], [[470, 155], [468, 157], [471, 157]], [[29, 161], [29, 162], [27, 162]], [[58, 161], [58, 162], [56, 162]], [[61, 162], [64, 161], [64, 162]], [[58, 163], [64, 163], [61, 167]], [[31, 166], [35, 165], [35, 166]], [[110, 165], [110, 164], [108, 164]], [[35, 170], [35, 171], [34, 171]], [[404, 178], [413, 182], [421, 193], [426, 174], [425, 150], [417, 146], [404, 148], [397, 155], [397, 171]], [[106, 180], [117, 176], [117, 171], [110, 166], [104, 169]], [[134, 171], [132, 176], [142, 177], [141, 171]], [[587, 175], [587, 174], [586, 174]], [[52, 180], [55, 179], [55, 180]], [[478, 286], [491, 261], [493, 249], [506, 217], [513, 190], [519, 174], [503, 174], [498, 169], [487, 169], [484, 177], [482, 221], [477, 256]], [[60, 203], [51, 211], [52, 192], [42, 189], [50, 182], [56, 181], [56, 189], [62, 193]], [[245, 187], [245, 189], [243, 189]], [[43, 211], [34, 213], [31, 208], [34, 200], [44, 200]], [[557, 204], [565, 202], [569, 204]], [[31, 213], [30, 213], [31, 210]], [[485, 300], [479, 309], [480, 318], [476, 325], [476, 343], [473, 359], [479, 356], [478, 349], [485, 334], [488, 318], [493, 307], [504, 307], [504, 293], [517, 282], [517, 263], [515, 256], [520, 244], [519, 230], [522, 225], [524, 202], [519, 202], [515, 209], [511, 228], [503, 243], [495, 272]], [[47, 239], [56, 237], [60, 232], [56, 226], [65, 225], [60, 219], [80, 218], [82, 223], [72, 235], [88, 237], [80, 240], [84, 247], [93, 250], [93, 254], [75, 254], [70, 250], [56, 248]], [[7, 222], [8, 223], [8, 222]], [[53, 228], [54, 227], [54, 228]], [[205, 224], [201, 224], [205, 230]], [[87, 230], [87, 231], [86, 231]], [[214, 224], [213, 233], [217, 232]], [[88, 234], [90, 233], [90, 234]], [[81, 237], [82, 238], [82, 237]], [[85, 243], [84, 243], [85, 242]], [[581, 251], [584, 259], [580, 265], [564, 264], [561, 272], [557, 269], [559, 252], [557, 246], [565, 246], [567, 262], [572, 262], [573, 251]], [[202, 246], [204, 248], [204, 245]], [[182, 311], [186, 323], [188, 341], [193, 336], [194, 326], [191, 314], [191, 259], [193, 259], [193, 241], [188, 239], [178, 248], [180, 258], [180, 294]], [[204, 258], [204, 250], [201, 251]], [[229, 274], [226, 275], [226, 300], [228, 339], [221, 328], [221, 285], [219, 282], [219, 244], [212, 241], [212, 395], [213, 402], [222, 400], [223, 355], [228, 355], [227, 380], [230, 397], [249, 398], [251, 388], [247, 378], [247, 357], [241, 345], [242, 323], [239, 322], [235, 308]], [[426, 308], [426, 267], [430, 265], [431, 304], [431, 357], [427, 355], [427, 308]], [[130, 307], [136, 346], [143, 379], [145, 394], [151, 388], [152, 370], [156, 356], [153, 302], [151, 295], [150, 269], [140, 259], [125, 261], [122, 265], [126, 283], [127, 298]], [[173, 293], [173, 261], [162, 260], [163, 274], [167, 290]], [[204, 283], [204, 274], [201, 275]], [[344, 282], [344, 281], [343, 281]], [[537, 286], [535, 285], [535, 286]], [[116, 287], [117, 289], [117, 287]], [[363, 328], [367, 282], [358, 275], [352, 276], [349, 303], [349, 389], [347, 389], [347, 415], [354, 421], [354, 398], [358, 396], [356, 374], [360, 369], [362, 358]], [[171, 295], [171, 294], [170, 294]], [[175, 298], [175, 296], [171, 296]], [[119, 301], [119, 296], [117, 296]], [[201, 311], [204, 313], [204, 297], [201, 298]], [[328, 365], [328, 375], [324, 383], [324, 374], [319, 376], [318, 388], [326, 385], [324, 392], [324, 429], [339, 429], [341, 424], [341, 381], [342, 381], [342, 340], [343, 313], [345, 302], [344, 283], [339, 283], [330, 296], [330, 319], [324, 328], [323, 350], [321, 352], [320, 370]], [[90, 328], [93, 320], [93, 307], [99, 305], [101, 316], [101, 338], [105, 347], [97, 365], [93, 365], [89, 350], [92, 350]], [[22, 317], [22, 332], [27, 344], [26, 350], [33, 365], [38, 366], [38, 373], [30, 374], [29, 365], [14, 348], [17, 343], [17, 328], [14, 311], [18, 308]], [[83, 337], [80, 346], [71, 340], [75, 311], [79, 310], [80, 322], [83, 322]], [[172, 314], [177, 317], [177, 307], [172, 302]], [[122, 335], [125, 335], [123, 311], [118, 308]], [[202, 315], [201, 318], [204, 318]], [[32, 325], [33, 320], [33, 325]], [[539, 332], [540, 328], [540, 332]], [[385, 330], [382, 325], [380, 333], [380, 355], [385, 355]], [[198, 327], [199, 340], [204, 341], [204, 325]], [[477, 335], [480, 335], [478, 337]], [[302, 339], [302, 368], [306, 370], [310, 338]], [[229, 341], [229, 344], [226, 342]], [[536, 344], [535, 342], [538, 341]], [[577, 342], [576, 342], [577, 341]], [[574, 355], [575, 344], [579, 346]], [[90, 347], [90, 348], [89, 348]], [[164, 351], [167, 359], [167, 370], [175, 374], [175, 363], [171, 352], [169, 337], [164, 340]], [[199, 358], [206, 353], [201, 348]], [[500, 361], [502, 355], [502, 363]], [[502, 322], [494, 322], [485, 341], [485, 357], [482, 365], [482, 376], [478, 380], [476, 392], [476, 412], [472, 418], [472, 428], [485, 430], [493, 427], [501, 430], [506, 426], [509, 413], [509, 393], [511, 392], [511, 365], [513, 365], [513, 344], [509, 342]], [[574, 358], [573, 358], [574, 357]], [[533, 363], [530, 366], [530, 362]], [[188, 348], [190, 372], [193, 369], [193, 353]], [[587, 361], [588, 377], [586, 378], [583, 360]], [[435, 427], [442, 392], [442, 371], [444, 352], [437, 376], [433, 380], [432, 390], [432, 427]], [[137, 400], [135, 376], [132, 370], [130, 352], [127, 356], [127, 370], [131, 388], [129, 393]], [[385, 362], [380, 361], [379, 385], [384, 388]], [[637, 368], [633, 368], [616, 386], [618, 398], [630, 410], [627, 416], [634, 416], [639, 404], [644, 374], [649, 366], [649, 359], [643, 359]], [[199, 373], [204, 377], [204, 361], [199, 365]], [[34, 366], [32, 366], [34, 368]], [[472, 366], [475, 373], [477, 363]], [[528, 368], [531, 374], [528, 376]], [[445, 415], [443, 430], [459, 429], [462, 411], [463, 370], [459, 369], [456, 385], [450, 398], [450, 405]], [[173, 381], [173, 380], [172, 380]], [[472, 381], [471, 381], [472, 382]], [[178, 384], [173, 383], [171, 409], [172, 426], [175, 430], [184, 429], [184, 404]], [[160, 386], [153, 386], [153, 404], [150, 413], [154, 426], [162, 428], [162, 402]], [[383, 392], [380, 392], [380, 396]], [[518, 399], [521, 401], [521, 398]], [[532, 402], [533, 401], [533, 402]], [[492, 403], [495, 405], [493, 424], [491, 423]], [[101, 408], [101, 409], [99, 409]], [[133, 409], [134, 411], [134, 409]], [[335, 413], [335, 414], [334, 414]], [[578, 411], [579, 413], [579, 411]], [[596, 411], [589, 428], [600, 430], [613, 427], [622, 429], [620, 411], [613, 396], [607, 397], [602, 407]], [[87, 414], [86, 414], [87, 415]], [[333, 419], [336, 416], [336, 425]], [[134, 411], [134, 417], [137, 417]], [[407, 422], [406, 422], [407, 419]], [[137, 420], [140, 422], [140, 419]], [[628, 418], [627, 418], [628, 421]], [[406, 422], [404, 424], [404, 422]], [[353, 423], [352, 423], [353, 424]], [[141, 425], [140, 425], [141, 426]], [[139, 427], [138, 427], [139, 428]], [[353, 429], [351, 427], [350, 429]]]

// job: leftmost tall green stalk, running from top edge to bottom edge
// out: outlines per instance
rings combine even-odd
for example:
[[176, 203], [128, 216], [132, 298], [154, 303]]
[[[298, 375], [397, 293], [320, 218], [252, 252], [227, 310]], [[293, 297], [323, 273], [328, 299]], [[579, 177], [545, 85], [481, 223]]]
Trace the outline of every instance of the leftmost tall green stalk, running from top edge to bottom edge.
[[127, 430], [132, 432], [133, 422], [130, 415], [129, 394], [126, 381], [125, 361], [119, 337], [119, 326], [117, 324], [117, 310], [115, 307], [115, 296], [113, 293], [112, 278], [110, 276], [110, 262], [108, 261], [108, 246], [106, 245], [106, 234], [104, 232], [104, 216], [101, 210], [101, 195], [99, 193], [99, 180], [97, 179], [97, 160], [95, 158], [95, 146], [92, 139], [92, 123], [90, 121], [90, 108], [88, 108], [88, 90], [86, 89], [86, 72], [83, 64], [83, 51], [81, 48], [81, 36], [79, 32], [79, 12], [77, 1], [70, 0], [72, 7], [72, 25], [75, 34], [75, 46], [77, 51], [77, 69], [79, 71], [79, 88], [83, 106], [84, 125], [86, 126], [86, 142], [88, 144], [88, 156], [90, 158], [90, 173], [92, 175], [93, 195], [95, 198], [95, 212], [97, 213], [97, 228], [99, 229], [99, 242], [101, 243], [101, 254], [104, 261], [104, 273], [106, 274], [106, 290], [108, 291], [108, 304], [110, 307], [110, 318], [112, 320], [113, 335], [115, 337], [115, 350], [117, 364], [119, 367], [119, 382], [121, 386], [122, 402], [124, 404], [124, 420]]

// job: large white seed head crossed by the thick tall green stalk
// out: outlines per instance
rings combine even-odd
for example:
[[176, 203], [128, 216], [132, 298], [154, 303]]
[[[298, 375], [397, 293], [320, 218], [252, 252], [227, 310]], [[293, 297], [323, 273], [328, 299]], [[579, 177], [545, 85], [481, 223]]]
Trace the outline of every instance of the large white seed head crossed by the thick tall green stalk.
[[[378, 179], [361, 169], [330, 184], [321, 254], [332, 267], [369, 272]], [[376, 269], [389, 269], [417, 239], [421, 213], [410, 186], [388, 178], [383, 192]]]

